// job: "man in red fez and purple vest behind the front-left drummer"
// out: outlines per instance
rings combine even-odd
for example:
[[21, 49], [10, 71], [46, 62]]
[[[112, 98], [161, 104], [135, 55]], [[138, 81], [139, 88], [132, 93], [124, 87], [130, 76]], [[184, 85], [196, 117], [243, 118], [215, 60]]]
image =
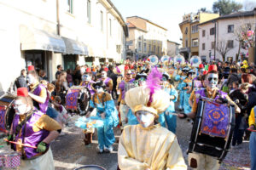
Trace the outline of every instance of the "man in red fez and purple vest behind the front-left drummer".
[[49, 103], [49, 94], [47, 93], [46, 87], [38, 82], [38, 73], [35, 71], [34, 66], [30, 65], [27, 68], [28, 74], [28, 95], [33, 99], [33, 105], [39, 111], [46, 113]]

